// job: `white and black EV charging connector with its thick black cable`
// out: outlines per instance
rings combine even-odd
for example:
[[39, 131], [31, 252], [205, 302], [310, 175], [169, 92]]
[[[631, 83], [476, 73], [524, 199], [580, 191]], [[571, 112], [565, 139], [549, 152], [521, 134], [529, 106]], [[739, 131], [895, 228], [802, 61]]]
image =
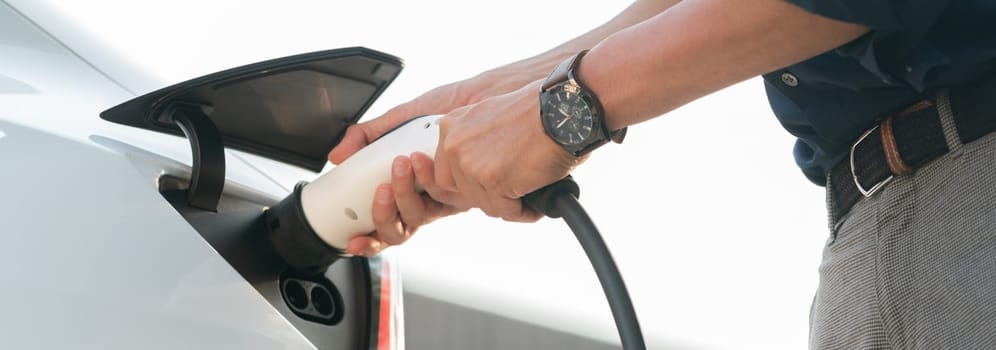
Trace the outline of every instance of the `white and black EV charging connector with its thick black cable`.
[[[441, 116], [409, 120], [360, 149], [339, 166], [294, 192], [266, 211], [270, 240], [293, 269], [321, 273], [341, 257], [353, 237], [374, 230], [374, 191], [391, 181], [391, 163], [398, 155], [422, 152], [435, 157]], [[633, 303], [612, 255], [594, 222], [577, 198], [569, 176], [523, 198], [528, 207], [562, 217], [591, 261], [609, 301], [623, 348], [646, 349]]]

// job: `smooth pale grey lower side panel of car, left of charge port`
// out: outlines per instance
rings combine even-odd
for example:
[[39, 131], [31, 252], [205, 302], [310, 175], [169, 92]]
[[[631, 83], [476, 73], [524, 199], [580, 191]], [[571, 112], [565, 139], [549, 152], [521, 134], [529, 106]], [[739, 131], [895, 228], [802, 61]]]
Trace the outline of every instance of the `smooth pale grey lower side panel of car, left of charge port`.
[[0, 130], [4, 348], [312, 347], [127, 155]]

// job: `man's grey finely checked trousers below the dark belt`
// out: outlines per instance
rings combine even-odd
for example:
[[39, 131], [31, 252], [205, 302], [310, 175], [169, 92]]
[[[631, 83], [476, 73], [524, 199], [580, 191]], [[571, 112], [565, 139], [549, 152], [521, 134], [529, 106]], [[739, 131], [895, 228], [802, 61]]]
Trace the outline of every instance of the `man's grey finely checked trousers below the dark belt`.
[[961, 144], [946, 103], [952, 151], [831, 218], [810, 348], [996, 349], [996, 133]]

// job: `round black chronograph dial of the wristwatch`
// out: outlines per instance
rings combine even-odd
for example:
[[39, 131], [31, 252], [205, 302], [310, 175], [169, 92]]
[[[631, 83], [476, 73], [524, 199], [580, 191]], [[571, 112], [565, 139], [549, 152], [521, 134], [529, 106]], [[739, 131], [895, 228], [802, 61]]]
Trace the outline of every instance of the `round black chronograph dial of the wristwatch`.
[[562, 144], [577, 145], [591, 137], [595, 120], [591, 108], [580, 95], [557, 90], [545, 102], [543, 123]]

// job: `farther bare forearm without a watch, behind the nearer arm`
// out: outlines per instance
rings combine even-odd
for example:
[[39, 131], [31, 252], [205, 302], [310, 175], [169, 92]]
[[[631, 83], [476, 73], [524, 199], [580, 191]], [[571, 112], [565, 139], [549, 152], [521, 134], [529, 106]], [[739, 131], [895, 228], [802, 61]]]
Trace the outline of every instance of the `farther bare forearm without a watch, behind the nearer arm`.
[[553, 68], [571, 55], [581, 50], [590, 49], [610, 35], [626, 29], [634, 24], [651, 18], [681, 0], [637, 0], [629, 7], [610, 19], [608, 22], [575, 37], [557, 47], [508, 65], [484, 72], [482, 74], [503, 74], [503, 71], [528, 72], [535, 79], [542, 79], [550, 74]]

